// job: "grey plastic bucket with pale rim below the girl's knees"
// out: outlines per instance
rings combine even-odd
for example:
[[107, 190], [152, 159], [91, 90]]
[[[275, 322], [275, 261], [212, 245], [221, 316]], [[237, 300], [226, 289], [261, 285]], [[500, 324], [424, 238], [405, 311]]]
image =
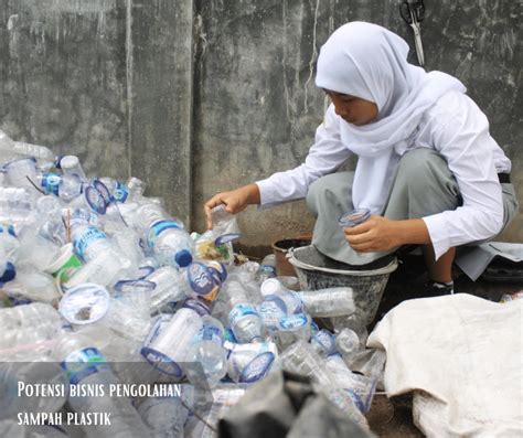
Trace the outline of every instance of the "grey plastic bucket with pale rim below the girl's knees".
[[312, 245], [290, 248], [289, 263], [295, 267], [301, 290], [319, 290], [350, 287], [354, 303], [361, 311], [365, 324], [376, 317], [388, 276], [397, 268], [397, 259], [383, 257], [363, 266], [346, 265], [322, 255]]

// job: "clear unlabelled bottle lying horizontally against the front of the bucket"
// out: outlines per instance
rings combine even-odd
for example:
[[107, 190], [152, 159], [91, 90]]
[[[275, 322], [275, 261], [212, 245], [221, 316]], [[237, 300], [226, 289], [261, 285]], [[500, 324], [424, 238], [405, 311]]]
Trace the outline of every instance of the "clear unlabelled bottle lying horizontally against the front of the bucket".
[[311, 317], [340, 317], [355, 312], [353, 290], [349, 287], [296, 292]]

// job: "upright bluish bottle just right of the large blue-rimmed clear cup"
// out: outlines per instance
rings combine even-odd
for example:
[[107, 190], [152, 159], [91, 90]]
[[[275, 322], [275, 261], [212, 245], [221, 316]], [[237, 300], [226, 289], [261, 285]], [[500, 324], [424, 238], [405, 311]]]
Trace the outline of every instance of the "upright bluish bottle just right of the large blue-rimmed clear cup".
[[194, 385], [216, 386], [227, 373], [223, 333], [218, 320], [209, 316], [202, 318], [202, 328], [188, 351], [188, 378]]

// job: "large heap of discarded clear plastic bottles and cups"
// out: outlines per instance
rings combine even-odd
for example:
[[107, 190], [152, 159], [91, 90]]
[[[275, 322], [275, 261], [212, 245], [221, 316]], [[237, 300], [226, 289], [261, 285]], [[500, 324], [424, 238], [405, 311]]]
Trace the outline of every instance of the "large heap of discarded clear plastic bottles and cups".
[[[65, 373], [39, 371], [41, 382], [150, 383], [154, 371], [186, 388], [181, 398], [32, 398], [46, 412], [110, 404], [110, 427], [87, 436], [213, 436], [223, 410], [279, 368], [309, 375], [365, 425], [385, 354], [365, 350], [350, 288], [297, 291], [296, 278], [276, 277], [274, 256], [235, 265], [241, 234], [223, 207], [213, 229], [190, 234], [136, 178], [87, 177], [77, 157], [2, 131], [0, 152], [0, 435], [20, 408], [12, 373], [42, 362]], [[214, 400], [206, 420], [189, 395], [199, 387]]]

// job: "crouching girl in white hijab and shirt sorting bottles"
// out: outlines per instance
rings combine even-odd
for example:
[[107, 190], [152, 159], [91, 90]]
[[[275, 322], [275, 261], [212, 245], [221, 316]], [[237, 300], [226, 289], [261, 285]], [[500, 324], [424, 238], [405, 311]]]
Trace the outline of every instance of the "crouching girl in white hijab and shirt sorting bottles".
[[[317, 217], [312, 244], [362, 265], [402, 245], [424, 248], [430, 290], [453, 293], [456, 247], [493, 238], [517, 211], [511, 162], [484, 114], [457, 78], [408, 64], [407, 43], [386, 29], [352, 22], [321, 47], [316, 85], [331, 98], [303, 164], [205, 204], [237, 213], [307, 195]], [[355, 153], [354, 172], [335, 170]], [[340, 228], [366, 207], [371, 218]]]

